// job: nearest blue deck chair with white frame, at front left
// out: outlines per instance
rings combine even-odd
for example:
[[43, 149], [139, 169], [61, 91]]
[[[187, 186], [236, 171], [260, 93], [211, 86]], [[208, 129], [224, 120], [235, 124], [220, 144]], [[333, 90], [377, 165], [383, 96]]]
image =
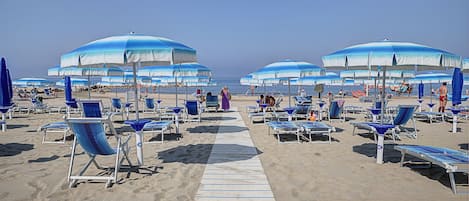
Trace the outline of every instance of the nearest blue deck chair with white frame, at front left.
[[[68, 170], [68, 181], [70, 182], [70, 188], [76, 186], [78, 180], [105, 180], [107, 181], [106, 187], [110, 187], [112, 182], [117, 182], [117, 173], [119, 172], [119, 169], [124, 160], [127, 161], [130, 167], [132, 166], [132, 163], [128, 158], [129, 149], [127, 145], [131, 135], [127, 136], [126, 139], [123, 140], [122, 136], [116, 133], [111, 121], [104, 120], [102, 118], [71, 118], [65, 121], [75, 134], [70, 158], [70, 166]], [[108, 143], [104, 124], [106, 124], [107, 127], [111, 130], [111, 133], [114, 134], [117, 141], [116, 148], [112, 147]], [[76, 175], [72, 175], [77, 144], [80, 144], [90, 159]], [[123, 155], [123, 158], [120, 157], [121, 154]], [[114, 168], [111, 168], [114, 169], [114, 171], [108, 170], [108, 173], [111, 174], [109, 176], [101, 176], [103, 175], [102, 173], [99, 173], [99, 175], [83, 175], [91, 163], [93, 163], [96, 168], [100, 170], [109, 169], [102, 168], [97, 163], [96, 156], [98, 155], [115, 155], [115, 166]]]

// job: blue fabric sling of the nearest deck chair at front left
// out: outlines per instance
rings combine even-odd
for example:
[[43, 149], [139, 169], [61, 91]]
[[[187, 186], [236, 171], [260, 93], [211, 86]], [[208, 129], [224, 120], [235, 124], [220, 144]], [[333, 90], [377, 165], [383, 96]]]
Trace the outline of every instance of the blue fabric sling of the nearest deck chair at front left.
[[[67, 119], [68, 126], [76, 136], [78, 143], [91, 155], [112, 155], [116, 151], [106, 139], [102, 119]], [[111, 131], [115, 132], [109, 123]]]

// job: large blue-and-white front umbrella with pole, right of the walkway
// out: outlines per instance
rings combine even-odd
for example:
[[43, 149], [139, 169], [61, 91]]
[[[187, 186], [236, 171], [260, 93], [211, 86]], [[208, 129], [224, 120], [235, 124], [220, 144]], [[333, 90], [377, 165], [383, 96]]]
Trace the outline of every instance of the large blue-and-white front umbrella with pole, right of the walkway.
[[[324, 67], [345, 70], [383, 68], [383, 89], [386, 86], [386, 68], [390, 70], [412, 70], [444, 67], [460, 67], [461, 58], [447, 51], [408, 42], [388, 40], [359, 44], [344, 48], [322, 57]], [[381, 94], [384, 105], [386, 90]], [[381, 107], [381, 124], [384, 121], [384, 107]], [[383, 126], [384, 127], [384, 126]], [[383, 129], [385, 130], [385, 129]], [[382, 163], [384, 137], [379, 135], [377, 163]]]

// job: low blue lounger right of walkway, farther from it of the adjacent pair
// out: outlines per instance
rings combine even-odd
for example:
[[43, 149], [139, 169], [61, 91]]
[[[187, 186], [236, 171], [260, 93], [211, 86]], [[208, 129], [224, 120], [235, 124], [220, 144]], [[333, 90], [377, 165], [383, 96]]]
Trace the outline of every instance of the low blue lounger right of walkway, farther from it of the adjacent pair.
[[[332, 126], [329, 126], [325, 123], [317, 122], [317, 121], [296, 122], [296, 125], [301, 128], [303, 135], [309, 136], [308, 139], [310, 143], [313, 142], [311, 138], [312, 135], [327, 135], [329, 138], [328, 143], [330, 144], [332, 142], [331, 132], [335, 131], [335, 128]], [[321, 141], [319, 143], [323, 143], [323, 142]]]

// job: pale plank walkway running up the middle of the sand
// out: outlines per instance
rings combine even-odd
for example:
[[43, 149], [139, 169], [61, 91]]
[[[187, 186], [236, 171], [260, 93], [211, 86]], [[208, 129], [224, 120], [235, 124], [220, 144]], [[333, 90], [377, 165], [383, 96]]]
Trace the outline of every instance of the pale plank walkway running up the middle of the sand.
[[275, 200], [249, 130], [236, 108], [222, 115], [195, 200]]

